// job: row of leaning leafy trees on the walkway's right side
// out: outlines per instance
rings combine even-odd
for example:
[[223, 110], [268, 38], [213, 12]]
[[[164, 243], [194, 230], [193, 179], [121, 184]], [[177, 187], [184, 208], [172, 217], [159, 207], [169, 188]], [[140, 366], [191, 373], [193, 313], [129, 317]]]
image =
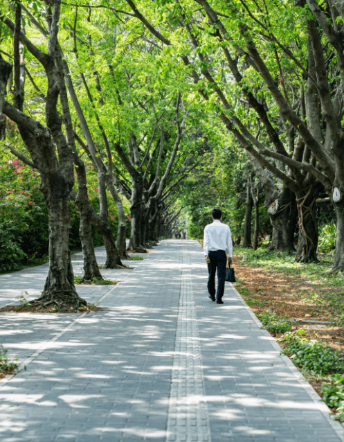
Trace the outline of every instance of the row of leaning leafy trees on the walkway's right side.
[[336, 210], [332, 270], [343, 270], [344, 2], [168, 1], [154, 17], [127, 4], [245, 150], [273, 247], [293, 251], [298, 218], [296, 259], [316, 260], [314, 208], [325, 196]]

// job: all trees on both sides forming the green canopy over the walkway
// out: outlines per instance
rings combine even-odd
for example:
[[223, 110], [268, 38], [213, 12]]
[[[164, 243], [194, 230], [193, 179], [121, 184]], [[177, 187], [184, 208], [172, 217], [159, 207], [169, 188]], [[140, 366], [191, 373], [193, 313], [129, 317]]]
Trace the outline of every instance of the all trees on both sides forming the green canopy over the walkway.
[[[298, 226], [296, 259], [316, 260], [316, 202], [334, 204], [332, 270], [343, 270], [343, 6], [343, 0], [2, 6], [0, 133], [7, 133], [12, 154], [39, 170], [49, 215], [51, 267], [41, 301], [82, 302], [68, 247], [71, 198], [80, 211], [85, 273], [100, 276], [90, 223], [102, 233], [107, 267], [122, 265], [121, 195], [131, 202], [129, 248], [143, 251], [171, 232], [190, 186], [204, 195], [209, 158], [221, 158], [224, 168], [251, 164], [241, 204], [244, 245], [252, 206], [257, 224], [264, 195], [272, 247], [293, 251]], [[8, 120], [21, 141], [6, 129]], [[89, 202], [85, 158], [97, 174], [99, 210]], [[219, 175], [212, 164], [210, 173]], [[201, 175], [182, 185], [192, 170]], [[228, 192], [223, 175], [215, 179], [212, 205]], [[109, 197], [118, 213], [117, 245]]]

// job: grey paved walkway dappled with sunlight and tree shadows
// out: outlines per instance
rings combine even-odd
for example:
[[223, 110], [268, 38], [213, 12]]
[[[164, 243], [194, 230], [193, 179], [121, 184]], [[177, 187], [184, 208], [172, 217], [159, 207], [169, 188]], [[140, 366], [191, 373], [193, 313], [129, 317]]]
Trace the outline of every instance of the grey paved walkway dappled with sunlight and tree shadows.
[[[223, 306], [208, 299], [196, 241], [162, 241], [131, 265], [103, 271], [119, 285], [79, 288], [102, 312], [0, 315], [21, 362], [0, 381], [1, 442], [344, 441], [233, 286]], [[42, 290], [46, 272], [1, 276], [0, 305]]]

